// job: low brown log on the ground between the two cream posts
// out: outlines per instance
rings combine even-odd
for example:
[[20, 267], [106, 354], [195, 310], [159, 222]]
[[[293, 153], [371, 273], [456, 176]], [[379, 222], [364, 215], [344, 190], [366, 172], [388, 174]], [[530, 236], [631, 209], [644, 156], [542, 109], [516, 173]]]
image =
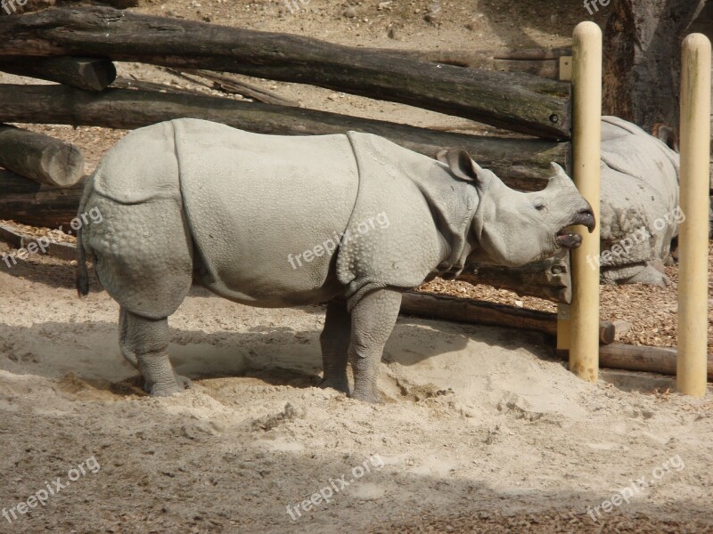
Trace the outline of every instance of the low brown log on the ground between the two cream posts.
[[[567, 351], [558, 351], [563, 359], [569, 359]], [[599, 366], [602, 368], [646, 371], [661, 375], [676, 376], [676, 347], [647, 347], [614, 343], [599, 347]], [[708, 355], [708, 379], [713, 382], [713, 355]]]

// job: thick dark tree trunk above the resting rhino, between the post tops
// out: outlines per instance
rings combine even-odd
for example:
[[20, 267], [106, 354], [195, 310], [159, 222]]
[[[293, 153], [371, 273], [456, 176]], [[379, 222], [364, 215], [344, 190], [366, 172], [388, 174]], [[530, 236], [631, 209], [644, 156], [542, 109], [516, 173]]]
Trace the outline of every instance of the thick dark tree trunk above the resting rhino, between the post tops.
[[678, 127], [678, 85], [684, 32], [705, 0], [619, 0], [604, 32], [603, 102], [652, 132]]

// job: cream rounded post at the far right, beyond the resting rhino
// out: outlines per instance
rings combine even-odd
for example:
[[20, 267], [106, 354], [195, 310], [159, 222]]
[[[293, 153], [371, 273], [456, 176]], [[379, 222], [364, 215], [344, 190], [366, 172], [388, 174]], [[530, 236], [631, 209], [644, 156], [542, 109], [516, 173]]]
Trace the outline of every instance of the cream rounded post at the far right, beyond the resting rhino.
[[684, 39], [681, 65], [680, 202], [678, 230], [678, 360], [676, 388], [706, 394], [708, 352], [708, 232], [710, 41]]

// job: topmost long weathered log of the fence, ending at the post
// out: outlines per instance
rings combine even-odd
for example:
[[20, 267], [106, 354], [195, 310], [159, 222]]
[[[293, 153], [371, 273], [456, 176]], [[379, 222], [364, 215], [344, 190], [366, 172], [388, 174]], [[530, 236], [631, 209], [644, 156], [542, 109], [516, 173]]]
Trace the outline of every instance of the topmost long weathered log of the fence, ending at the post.
[[569, 84], [111, 8], [51, 9], [0, 20], [0, 55], [107, 57], [235, 72], [401, 102], [523, 134], [570, 136]]

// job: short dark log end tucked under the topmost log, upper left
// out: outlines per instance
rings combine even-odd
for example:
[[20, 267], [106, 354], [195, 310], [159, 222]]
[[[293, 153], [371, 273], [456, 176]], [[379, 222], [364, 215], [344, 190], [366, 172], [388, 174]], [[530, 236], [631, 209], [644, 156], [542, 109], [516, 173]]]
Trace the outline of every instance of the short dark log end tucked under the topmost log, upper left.
[[94, 58], [2, 59], [0, 70], [18, 76], [71, 85], [85, 91], [102, 91], [117, 77], [117, 69], [111, 61]]

